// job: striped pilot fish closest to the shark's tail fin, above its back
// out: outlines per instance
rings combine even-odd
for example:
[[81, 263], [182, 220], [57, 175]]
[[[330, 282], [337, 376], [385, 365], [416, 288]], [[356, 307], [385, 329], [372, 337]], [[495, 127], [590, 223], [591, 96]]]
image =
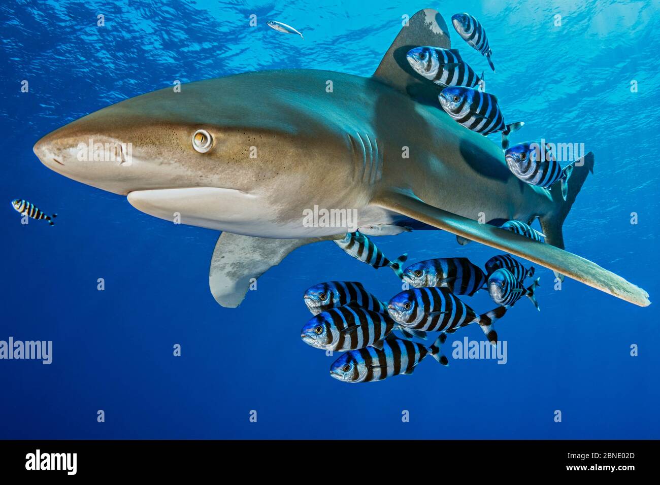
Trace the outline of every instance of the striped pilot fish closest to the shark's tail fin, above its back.
[[554, 158], [552, 147], [545, 143], [521, 143], [504, 152], [504, 160], [512, 174], [523, 182], [550, 191], [556, 181], [560, 181], [562, 197], [568, 195], [568, 178], [573, 172], [573, 164], [562, 169]]

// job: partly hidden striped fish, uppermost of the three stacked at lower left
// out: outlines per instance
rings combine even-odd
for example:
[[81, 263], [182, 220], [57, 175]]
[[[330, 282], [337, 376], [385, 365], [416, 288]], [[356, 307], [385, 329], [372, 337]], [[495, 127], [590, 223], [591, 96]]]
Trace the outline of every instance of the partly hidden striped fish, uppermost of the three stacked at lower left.
[[303, 298], [312, 315], [350, 304], [387, 313], [387, 305], [365, 290], [358, 281], [328, 281], [315, 284], [305, 291]]

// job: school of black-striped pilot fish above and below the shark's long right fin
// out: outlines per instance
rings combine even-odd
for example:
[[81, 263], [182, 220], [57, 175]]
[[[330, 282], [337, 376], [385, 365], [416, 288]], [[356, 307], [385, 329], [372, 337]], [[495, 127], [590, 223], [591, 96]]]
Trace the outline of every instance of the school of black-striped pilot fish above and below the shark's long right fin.
[[[451, 23], [469, 46], [486, 57], [495, 72], [492, 49], [480, 22], [462, 13], [453, 15]], [[457, 123], [484, 136], [501, 133], [504, 159], [513, 175], [546, 190], [558, 183], [566, 200], [572, 164], [562, 168], [545, 142], [509, 146], [508, 135], [524, 123], [504, 121], [496, 96], [485, 91], [484, 73], [477, 75], [458, 49], [418, 46], [408, 51], [407, 60], [416, 73], [443, 87], [438, 96], [440, 108]], [[544, 234], [520, 220], [497, 225], [545, 242]], [[463, 245], [469, 240], [457, 236], [457, 242]], [[359, 230], [347, 233], [335, 243], [374, 269], [390, 267], [403, 280], [403, 288], [407, 288], [387, 301], [380, 300], [356, 281], [321, 282], [306, 290], [304, 302], [314, 316], [302, 327], [300, 337], [306, 344], [326, 352], [345, 352], [330, 366], [331, 377], [339, 381], [381, 381], [393, 375], [411, 374], [429, 355], [447, 366], [449, 360], [442, 353], [447, 334], [475, 324], [490, 343], [496, 344], [496, 321], [523, 296], [540, 311], [535, 298], [539, 278], [531, 284], [525, 282], [533, 277], [534, 268], [525, 267], [509, 254], [488, 259], [485, 271], [466, 257], [428, 259], [402, 269], [407, 254], [388, 259]], [[480, 290], [488, 292], [494, 305], [480, 310], [483, 313], [463, 301]], [[428, 337], [427, 333], [434, 333], [434, 337]]]

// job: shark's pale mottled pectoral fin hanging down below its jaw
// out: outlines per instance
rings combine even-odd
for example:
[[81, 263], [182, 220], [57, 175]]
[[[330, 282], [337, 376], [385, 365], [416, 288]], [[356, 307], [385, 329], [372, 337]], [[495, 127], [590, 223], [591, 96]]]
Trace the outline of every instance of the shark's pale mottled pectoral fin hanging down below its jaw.
[[330, 238], [270, 239], [223, 232], [213, 250], [209, 286], [224, 307], [240, 305], [251, 284], [294, 249]]

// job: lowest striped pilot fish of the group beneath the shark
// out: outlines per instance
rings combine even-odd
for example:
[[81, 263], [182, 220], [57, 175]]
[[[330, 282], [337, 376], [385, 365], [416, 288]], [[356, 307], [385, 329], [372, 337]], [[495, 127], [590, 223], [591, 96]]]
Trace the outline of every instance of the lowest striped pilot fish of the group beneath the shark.
[[342, 382], [382, 381], [399, 374], [411, 374], [424, 357], [432, 355], [443, 366], [449, 360], [442, 355], [442, 344], [447, 339], [445, 333], [431, 346], [424, 346], [411, 340], [398, 339], [390, 335], [383, 340], [383, 347], [366, 347], [349, 350], [330, 366], [330, 375]]

